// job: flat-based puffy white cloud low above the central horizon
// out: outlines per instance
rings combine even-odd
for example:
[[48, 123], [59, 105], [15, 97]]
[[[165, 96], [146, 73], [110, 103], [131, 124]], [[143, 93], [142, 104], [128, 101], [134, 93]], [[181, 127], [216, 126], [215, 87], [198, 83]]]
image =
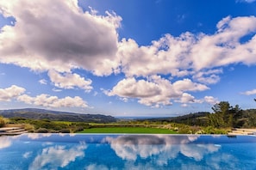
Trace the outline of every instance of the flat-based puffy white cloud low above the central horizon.
[[203, 84], [191, 82], [184, 79], [177, 82], [169, 82], [160, 76], [150, 76], [148, 80], [136, 80], [134, 77], [125, 78], [118, 82], [114, 88], [104, 93], [122, 98], [136, 98], [140, 104], [146, 106], [168, 106], [172, 105], [171, 100], [178, 100], [182, 103], [199, 102], [194, 96], [185, 91], [203, 91], [209, 89]]

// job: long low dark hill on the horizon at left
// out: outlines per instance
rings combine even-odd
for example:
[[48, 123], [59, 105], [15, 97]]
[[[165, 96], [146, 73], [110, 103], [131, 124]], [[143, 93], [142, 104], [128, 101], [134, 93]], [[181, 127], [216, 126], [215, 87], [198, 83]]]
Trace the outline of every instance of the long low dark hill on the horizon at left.
[[0, 115], [4, 118], [31, 118], [31, 119], [48, 119], [70, 122], [95, 122], [110, 123], [116, 122], [116, 118], [102, 114], [82, 114], [74, 112], [58, 112], [45, 109], [24, 108], [0, 110]]

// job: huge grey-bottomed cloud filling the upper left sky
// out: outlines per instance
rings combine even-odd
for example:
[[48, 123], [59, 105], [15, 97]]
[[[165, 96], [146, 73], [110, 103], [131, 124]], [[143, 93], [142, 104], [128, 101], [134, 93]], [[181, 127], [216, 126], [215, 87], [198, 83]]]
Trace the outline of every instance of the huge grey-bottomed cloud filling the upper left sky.
[[77, 0], [1, 1], [0, 12], [16, 19], [15, 26], [2, 27], [1, 63], [36, 71], [79, 67], [98, 76], [117, 67], [116, 29], [122, 18], [114, 13], [84, 13]]

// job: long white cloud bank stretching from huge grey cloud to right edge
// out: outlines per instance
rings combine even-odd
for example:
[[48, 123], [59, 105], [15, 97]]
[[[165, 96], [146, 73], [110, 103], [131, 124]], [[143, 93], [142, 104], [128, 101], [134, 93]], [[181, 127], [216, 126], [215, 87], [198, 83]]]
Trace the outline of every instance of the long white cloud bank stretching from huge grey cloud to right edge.
[[[240, 42], [243, 37], [256, 33], [255, 16], [228, 16], [219, 21], [216, 28], [214, 34], [182, 33], [173, 37], [167, 33], [151, 46], [138, 46], [134, 39], [122, 39], [118, 47], [122, 71], [127, 76], [189, 76], [202, 70], [209, 74], [211, 69], [228, 64], [256, 64], [253, 46], [256, 36]], [[216, 75], [209, 75], [209, 79], [200, 79], [198, 75], [196, 78], [208, 83], [219, 81]]]

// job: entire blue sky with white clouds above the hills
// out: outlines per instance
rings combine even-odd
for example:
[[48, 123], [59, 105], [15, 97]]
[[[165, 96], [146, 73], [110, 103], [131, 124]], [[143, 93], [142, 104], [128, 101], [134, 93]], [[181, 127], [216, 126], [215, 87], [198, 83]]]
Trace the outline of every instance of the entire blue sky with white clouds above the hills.
[[0, 109], [255, 108], [255, 0], [0, 0]]

